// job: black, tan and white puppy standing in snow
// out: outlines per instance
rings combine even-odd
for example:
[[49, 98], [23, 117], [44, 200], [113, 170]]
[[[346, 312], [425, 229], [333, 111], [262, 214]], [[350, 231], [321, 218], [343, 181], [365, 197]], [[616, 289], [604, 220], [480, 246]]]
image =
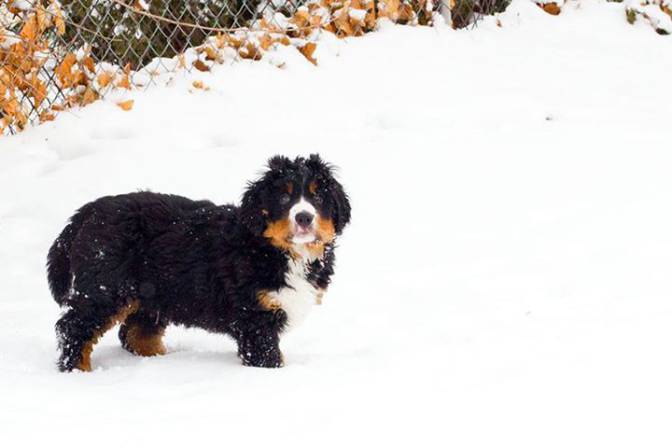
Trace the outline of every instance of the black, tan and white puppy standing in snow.
[[59, 370], [90, 371], [94, 345], [116, 324], [136, 355], [165, 354], [176, 324], [231, 336], [244, 365], [283, 366], [280, 336], [329, 286], [350, 213], [317, 154], [271, 158], [240, 206], [148, 191], [84, 205], [47, 257], [64, 308]]

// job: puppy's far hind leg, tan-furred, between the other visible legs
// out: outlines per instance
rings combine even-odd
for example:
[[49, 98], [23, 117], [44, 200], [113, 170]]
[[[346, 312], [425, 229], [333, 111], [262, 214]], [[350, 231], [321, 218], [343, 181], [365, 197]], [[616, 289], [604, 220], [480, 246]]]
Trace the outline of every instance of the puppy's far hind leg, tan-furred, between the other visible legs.
[[158, 314], [141, 308], [119, 327], [119, 340], [122, 347], [135, 355], [165, 355], [162, 341], [165, 331], [166, 323], [160, 320]]

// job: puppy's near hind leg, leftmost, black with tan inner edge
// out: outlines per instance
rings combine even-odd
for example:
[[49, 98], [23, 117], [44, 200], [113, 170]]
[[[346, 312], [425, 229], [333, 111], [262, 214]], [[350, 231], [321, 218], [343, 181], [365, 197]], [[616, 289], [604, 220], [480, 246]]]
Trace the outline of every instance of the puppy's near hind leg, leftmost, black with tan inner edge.
[[98, 339], [117, 323], [123, 323], [138, 306], [137, 300], [122, 306], [103, 306], [91, 300], [66, 311], [56, 322], [61, 352], [58, 368], [63, 372], [75, 369], [91, 371], [91, 353]]

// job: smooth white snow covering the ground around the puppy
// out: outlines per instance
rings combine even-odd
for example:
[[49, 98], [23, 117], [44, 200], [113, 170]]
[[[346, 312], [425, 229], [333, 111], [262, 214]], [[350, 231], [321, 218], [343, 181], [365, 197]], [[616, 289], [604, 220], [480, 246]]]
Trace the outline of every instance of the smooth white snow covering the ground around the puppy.
[[[500, 20], [325, 37], [318, 67], [287, 50], [0, 140], [0, 445], [671, 446], [672, 39], [606, 2]], [[316, 151], [353, 220], [285, 368], [171, 327], [166, 356], [115, 329], [56, 370], [44, 264], [78, 206], [237, 201]]]

